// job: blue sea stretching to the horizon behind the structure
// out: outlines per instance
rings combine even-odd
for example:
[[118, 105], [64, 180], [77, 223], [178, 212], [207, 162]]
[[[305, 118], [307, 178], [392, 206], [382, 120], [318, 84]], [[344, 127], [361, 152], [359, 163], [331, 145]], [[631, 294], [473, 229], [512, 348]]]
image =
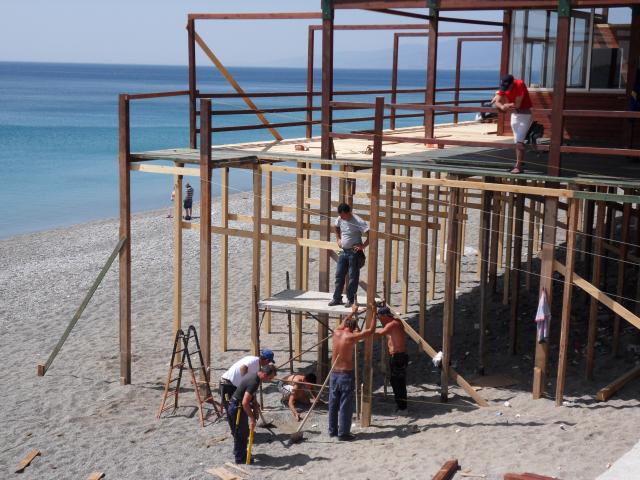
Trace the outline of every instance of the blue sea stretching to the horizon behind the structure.
[[[247, 92], [305, 91], [306, 70], [296, 68], [230, 68]], [[232, 92], [213, 68], [199, 68], [201, 92]], [[463, 87], [497, 85], [497, 70], [464, 71]], [[454, 86], [454, 72], [439, 70], [438, 87]], [[321, 72], [314, 72], [316, 89]], [[337, 69], [334, 90], [389, 89], [389, 70]], [[424, 88], [424, 70], [401, 70], [398, 88]], [[185, 66], [97, 65], [0, 62], [0, 238], [49, 230], [118, 215], [118, 94], [188, 88]], [[489, 99], [492, 91], [468, 92], [462, 99]], [[336, 100], [372, 102], [376, 95], [336, 97]], [[437, 100], [450, 100], [442, 92]], [[387, 96], [389, 100], [389, 96]], [[304, 97], [256, 98], [260, 108], [304, 106]], [[398, 102], [424, 101], [423, 95], [402, 94]], [[319, 105], [319, 97], [315, 99]], [[241, 100], [216, 99], [213, 109], [246, 108]], [[339, 112], [337, 116], [365, 116], [367, 111]], [[463, 115], [461, 120], [472, 118]], [[270, 122], [305, 120], [305, 113], [267, 115]], [[319, 112], [314, 118], [319, 118]], [[437, 121], [451, 121], [449, 116]], [[398, 127], [419, 124], [420, 119], [399, 119]], [[218, 127], [254, 125], [253, 115], [214, 116]], [[342, 123], [337, 131], [371, 128], [372, 122]], [[303, 137], [304, 127], [279, 129], [285, 138]], [[314, 135], [319, 127], [314, 128]], [[268, 130], [214, 133], [214, 145], [268, 140]], [[140, 100], [131, 104], [132, 151], [187, 147], [189, 119], [187, 97]], [[274, 183], [291, 181], [275, 177]], [[132, 172], [132, 210], [167, 208], [172, 178]], [[198, 199], [196, 187], [195, 199]], [[218, 176], [213, 195], [219, 194]], [[232, 192], [251, 188], [246, 172], [233, 171]]]

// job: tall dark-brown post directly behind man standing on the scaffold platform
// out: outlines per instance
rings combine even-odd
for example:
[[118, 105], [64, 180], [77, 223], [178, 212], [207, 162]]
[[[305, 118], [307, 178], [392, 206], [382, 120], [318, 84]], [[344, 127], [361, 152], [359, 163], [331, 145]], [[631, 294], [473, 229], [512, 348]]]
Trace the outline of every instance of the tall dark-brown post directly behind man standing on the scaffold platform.
[[[328, 160], [333, 157], [333, 142], [329, 135], [333, 129], [332, 110], [330, 102], [333, 99], [333, 19], [334, 9], [332, 0], [322, 0], [322, 138], [320, 157]], [[330, 170], [331, 165], [322, 165], [321, 169]], [[320, 240], [331, 239], [331, 178], [320, 179]], [[318, 288], [321, 292], [330, 291], [329, 251], [320, 250], [318, 261]], [[328, 336], [325, 327], [328, 322], [326, 315], [321, 315], [318, 322], [318, 341]], [[326, 377], [329, 371], [329, 343], [324, 340], [318, 345], [317, 352], [318, 380]]]

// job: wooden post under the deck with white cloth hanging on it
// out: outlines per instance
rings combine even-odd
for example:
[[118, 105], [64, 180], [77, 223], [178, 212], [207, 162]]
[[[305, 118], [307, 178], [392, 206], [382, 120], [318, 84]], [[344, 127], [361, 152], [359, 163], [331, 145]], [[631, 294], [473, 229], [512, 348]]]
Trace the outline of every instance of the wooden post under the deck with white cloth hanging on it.
[[[553, 303], [553, 262], [555, 260], [556, 222], [558, 218], [558, 197], [545, 197], [544, 230], [542, 234], [542, 262], [540, 267], [540, 291], [546, 291], [549, 308]], [[536, 342], [535, 366], [533, 367], [533, 398], [539, 399], [544, 393], [547, 379], [549, 342]]]

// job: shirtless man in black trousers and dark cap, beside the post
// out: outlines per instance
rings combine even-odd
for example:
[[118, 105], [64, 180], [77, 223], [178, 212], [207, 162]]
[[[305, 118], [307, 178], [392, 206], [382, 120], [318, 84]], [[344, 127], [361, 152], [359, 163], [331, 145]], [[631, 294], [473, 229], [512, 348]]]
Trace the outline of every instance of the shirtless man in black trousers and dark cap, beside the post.
[[399, 319], [393, 316], [387, 306], [378, 308], [378, 318], [382, 323], [382, 328], [376, 330], [376, 335], [387, 337], [389, 380], [398, 407], [396, 411], [403, 413], [407, 411], [407, 364], [409, 363], [404, 326]]

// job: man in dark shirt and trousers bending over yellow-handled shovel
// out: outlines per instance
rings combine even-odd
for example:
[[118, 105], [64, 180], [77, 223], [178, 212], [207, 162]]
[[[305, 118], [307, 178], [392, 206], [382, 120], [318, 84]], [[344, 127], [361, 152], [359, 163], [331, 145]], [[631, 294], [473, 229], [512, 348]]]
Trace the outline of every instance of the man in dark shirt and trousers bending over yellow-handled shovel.
[[[269, 382], [276, 376], [273, 365], [260, 367], [257, 374], [246, 375], [233, 393], [227, 410], [227, 420], [233, 435], [233, 455], [236, 463], [245, 463], [247, 458], [247, 442], [249, 425], [256, 428], [256, 420], [260, 415], [260, 404], [256, 398], [260, 383]], [[240, 417], [238, 418], [238, 415]]]

